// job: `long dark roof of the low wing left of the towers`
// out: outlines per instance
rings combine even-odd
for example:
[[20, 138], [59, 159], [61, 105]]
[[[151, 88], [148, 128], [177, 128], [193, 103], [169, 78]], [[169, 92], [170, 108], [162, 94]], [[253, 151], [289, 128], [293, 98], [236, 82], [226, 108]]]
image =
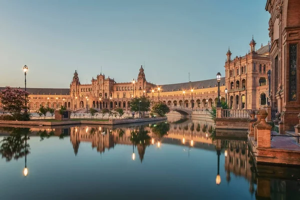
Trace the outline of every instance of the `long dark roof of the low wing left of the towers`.
[[[0, 90], [5, 89], [6, 87], [0, 87]], [[15, 88], [15, 87], [12, 87]], [[19, 89], [24, 89], [22, 87], [16, 87]], [[29, 94], [47, 94], [47, 95], [69, 95], [69, 88], [26, 88], [26, 91]]]

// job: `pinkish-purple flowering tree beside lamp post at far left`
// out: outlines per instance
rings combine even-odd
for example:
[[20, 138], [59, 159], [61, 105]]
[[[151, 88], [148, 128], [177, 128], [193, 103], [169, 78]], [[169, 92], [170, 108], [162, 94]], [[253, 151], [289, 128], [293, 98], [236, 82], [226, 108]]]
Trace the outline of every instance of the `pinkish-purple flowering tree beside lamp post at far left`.
[[11, 88], [7, 86], [0, 91], [0, 99], [2, 107], [7, 110], [16, 120], [29, 120], [30, 115], [28, 113], [21, 113], [23, 109], [28, 109], [26, 104], [26, 97], [29, 93], [17, 88]]

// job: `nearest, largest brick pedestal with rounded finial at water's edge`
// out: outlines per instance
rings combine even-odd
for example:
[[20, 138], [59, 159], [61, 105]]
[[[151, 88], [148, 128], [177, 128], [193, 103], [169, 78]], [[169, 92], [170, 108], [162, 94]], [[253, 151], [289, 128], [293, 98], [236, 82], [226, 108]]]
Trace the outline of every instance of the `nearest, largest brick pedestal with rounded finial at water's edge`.
[[257, 129], [257, 147], [271, 147], [271, 129], [272, 126], [265, 121], [267, 112], [265, 109], [260, 109], [260, 122], [255, 126]]

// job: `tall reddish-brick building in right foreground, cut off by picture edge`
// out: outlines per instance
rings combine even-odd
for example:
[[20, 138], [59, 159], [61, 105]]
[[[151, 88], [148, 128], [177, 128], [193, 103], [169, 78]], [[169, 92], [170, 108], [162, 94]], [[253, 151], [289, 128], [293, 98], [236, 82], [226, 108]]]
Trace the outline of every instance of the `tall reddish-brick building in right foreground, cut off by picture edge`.
[[265, 9], [270, 13], [272, 84], [269, 102], [281, 113], [284, 131], [294, 130], [300, 112], [300, 1], [267, 0]]

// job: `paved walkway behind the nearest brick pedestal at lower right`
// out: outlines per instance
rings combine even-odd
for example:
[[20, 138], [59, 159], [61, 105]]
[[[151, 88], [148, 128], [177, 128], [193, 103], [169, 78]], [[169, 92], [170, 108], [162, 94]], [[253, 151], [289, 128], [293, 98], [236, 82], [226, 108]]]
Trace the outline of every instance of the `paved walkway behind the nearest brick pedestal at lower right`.
[[[279, 135], [275, 131], [272, 131], [272, 133], [274, 135]], [[297, 137], [273, 136], [271, 148], [300, 151], [300, 144], [297, 143]]]

